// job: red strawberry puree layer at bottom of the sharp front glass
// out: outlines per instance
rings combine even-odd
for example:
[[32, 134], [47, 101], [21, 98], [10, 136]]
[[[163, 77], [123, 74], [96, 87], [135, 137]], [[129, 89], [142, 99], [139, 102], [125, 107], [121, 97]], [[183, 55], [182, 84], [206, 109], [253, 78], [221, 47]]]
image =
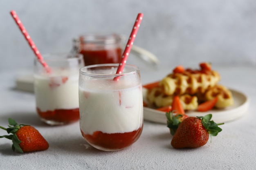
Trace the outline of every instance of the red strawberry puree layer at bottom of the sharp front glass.
[[105, 149], [118, 150], [132, 145], [139, 139], [143, 126], [132, 132], [125, 133], [103, 133], [95, 131], [92, 135], [85, 134], [82, 130], [83, 137], [92, 145]]

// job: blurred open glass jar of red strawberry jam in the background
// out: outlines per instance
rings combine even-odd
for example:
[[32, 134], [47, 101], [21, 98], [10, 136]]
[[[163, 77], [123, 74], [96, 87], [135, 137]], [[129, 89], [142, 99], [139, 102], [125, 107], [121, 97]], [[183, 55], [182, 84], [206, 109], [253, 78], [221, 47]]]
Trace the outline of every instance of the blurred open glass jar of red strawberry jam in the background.
[[85, 34], [73, 40], [73, 50], [81, 53], [85, 66], [119, 63], [121, 61], [121, 36], [112, 34]]

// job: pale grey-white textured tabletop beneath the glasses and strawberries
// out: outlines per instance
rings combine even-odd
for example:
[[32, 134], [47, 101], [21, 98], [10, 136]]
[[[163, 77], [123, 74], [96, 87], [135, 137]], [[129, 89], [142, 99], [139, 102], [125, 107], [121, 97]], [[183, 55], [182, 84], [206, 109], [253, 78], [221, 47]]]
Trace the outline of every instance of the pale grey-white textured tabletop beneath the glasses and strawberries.
[[[33, 93], [17, 91], [17, 73], [0, 73], [0, 125], [6, 127], [8, 117], [18, 123], [35, 126], [49, 142], [42, 152], [19, 154], [11, 150], [11, 141], [0, 139], [0, 170], [63, 169], [142, 169], [142, 170], [254, 170], [256, 169], [256, 68], [232, 66], [215, 68], [222, 76], [221, 84], [239, 90], [249, 97], [247, 114], [222, 125], [222, 132], [197, 149], [175, 150], [164, 124], [144, 121], [139, 140], [130, 148], [102, 152], [90, 147], [82, 138], [79, 122], [67, 126], [43, 124], [35, 110]], [[171, 69], [141, 67], [142, 83], [161, 79]], [[5, 135], [3, 130], [0, 135]]]

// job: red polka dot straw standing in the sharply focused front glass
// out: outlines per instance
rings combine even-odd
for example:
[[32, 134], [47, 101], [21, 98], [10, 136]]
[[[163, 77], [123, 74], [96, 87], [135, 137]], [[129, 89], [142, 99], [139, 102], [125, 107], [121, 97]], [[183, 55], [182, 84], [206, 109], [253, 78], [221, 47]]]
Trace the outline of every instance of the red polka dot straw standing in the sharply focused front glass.
[[[132, 32], [131, 32], [130, 37], [128, 39], [128, 42], [126, 44], [126, 48], [124, 49], [124, 53], [122, 55], [121, 62], [119, 63], [119, 66], [117, 68], [117, 74], [121, 74], [123, 72], [123, 70], [124, 70], [124, 66], [126, 64], [126, 60], [127, 60], [128, 56], [129, 56], [129, 53], [130, 53], [130, 50], [132, 48], [132, 44], [133, 44], [133, 42], [135, 40], [136, 34], [137, 34], [138, 30], [139, 30], [139, 26], [140, 26], [142, 18], [143, 18], [143, 13], [139, 13], [137, 15], [136, 21], [135, 21], [135, 23], [134, 23], [134, 25], [132, 27]], [[118, 78], [116, 77], [116, 80], [117, 79]]]

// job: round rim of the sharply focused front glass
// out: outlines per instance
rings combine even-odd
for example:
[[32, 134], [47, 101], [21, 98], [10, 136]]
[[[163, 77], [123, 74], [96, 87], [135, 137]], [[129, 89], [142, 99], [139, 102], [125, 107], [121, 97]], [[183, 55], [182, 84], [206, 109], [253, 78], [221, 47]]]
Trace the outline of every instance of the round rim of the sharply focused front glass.
[[90, 77], [119, 77], [119, 76], [123, 76], [123, 75], [131, 75], [134, 73], [137, 73], [139, 71], [139, 67], [135, 66], [133, 64], [126, 64], [124, 66], [124, 68], [126, 67], [130, 67], [130, 68], [134, 68], [134, 71], [129, 71], [128, 73], [114, 73], [114, 74], [99, 74], [99, 73], [88, 73], [86, 71], [83, 71], [87, 68], [96, 68], [96, 67], [103, 67], [103, 66], [113, 66], [113, 67], [117, 67], [119, 66], [119, 64], [117, 63], [111, 63], [111, 64], [93, 64], [93, 65], [89, 65], [89, 66], [84, 66], [82, 68], [79, 69], [79, 73], [82, 75], [87, 75]]

